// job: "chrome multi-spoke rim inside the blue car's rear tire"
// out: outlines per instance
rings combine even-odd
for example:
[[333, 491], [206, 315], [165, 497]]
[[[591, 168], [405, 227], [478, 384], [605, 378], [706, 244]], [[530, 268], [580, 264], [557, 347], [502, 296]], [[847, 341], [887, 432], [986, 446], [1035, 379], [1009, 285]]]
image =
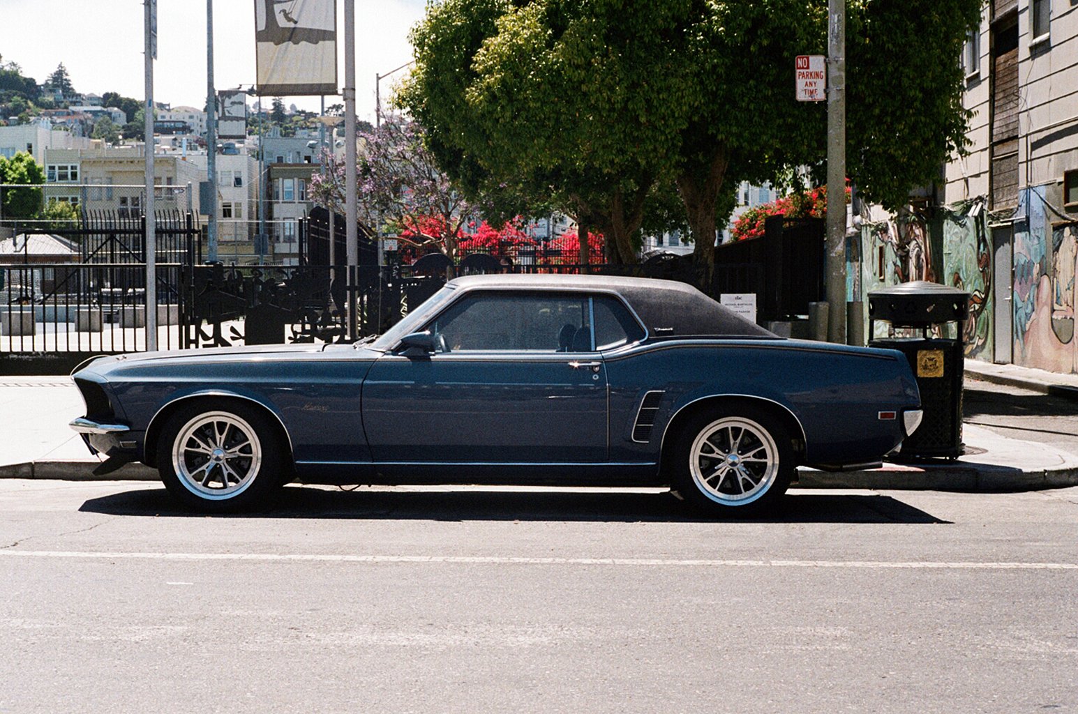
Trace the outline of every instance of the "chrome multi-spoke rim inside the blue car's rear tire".
[[766, 429], [744, 417], [723, 417], [700, 431], [689, 448], [689, 471], [700, 492], [720, 504], [762, 496], [779, 474], [778, 446]]

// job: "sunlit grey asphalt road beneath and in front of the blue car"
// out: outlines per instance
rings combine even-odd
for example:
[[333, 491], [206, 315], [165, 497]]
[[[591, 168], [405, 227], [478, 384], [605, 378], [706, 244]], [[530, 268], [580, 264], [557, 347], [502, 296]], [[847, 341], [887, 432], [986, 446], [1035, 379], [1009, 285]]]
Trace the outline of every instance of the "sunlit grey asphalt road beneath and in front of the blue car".
[[1078, 489], [0, 481], [0, 712], [1078, 711]]

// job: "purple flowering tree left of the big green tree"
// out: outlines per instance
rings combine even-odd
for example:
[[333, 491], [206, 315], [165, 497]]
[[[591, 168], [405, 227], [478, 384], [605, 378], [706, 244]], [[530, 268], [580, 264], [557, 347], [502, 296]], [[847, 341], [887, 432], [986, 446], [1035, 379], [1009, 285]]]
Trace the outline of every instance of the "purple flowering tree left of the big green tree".
[[[312, 196], [343, 213], [344, 163], [332, 156], [323, 162], [326, 172], [312, 178]], [[381, 127], [360, 134], [357, 174], [360, 221], [381, 225], [420, 251], [434, 248], [457, 258], [464, 228], [478, 220], [479, 211], [438, 168], [416, 122], [391, 114]]]

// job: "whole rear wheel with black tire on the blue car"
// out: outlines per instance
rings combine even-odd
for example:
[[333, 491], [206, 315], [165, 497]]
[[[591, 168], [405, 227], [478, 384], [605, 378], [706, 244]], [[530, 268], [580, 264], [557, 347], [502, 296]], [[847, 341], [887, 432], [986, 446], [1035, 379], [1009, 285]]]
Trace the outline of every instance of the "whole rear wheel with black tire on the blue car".
[[755, 518], [783, 498], [797, 463], [783, 423], [764, 409], [738, 404], [691, 416], [664, 454], [664, 468], [672, 490], [690, 507]]

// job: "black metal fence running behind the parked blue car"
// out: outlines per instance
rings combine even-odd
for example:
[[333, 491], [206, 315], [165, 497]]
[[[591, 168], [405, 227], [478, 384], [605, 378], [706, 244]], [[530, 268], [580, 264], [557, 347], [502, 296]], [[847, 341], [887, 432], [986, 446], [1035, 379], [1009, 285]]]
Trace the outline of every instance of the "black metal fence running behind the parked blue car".
[[[85, 216], [66, 232], [83, 247], [82, 262], [0, 265], [0, 374], [56, 374], [92, 354], [147, 349], [142, 227], [141, 220]], [[755, 293], [760, 320], [804, 314], [807, 304], [824, 295], [823, 229], [804, 222], [769, 224], [765, 238], [719, 247], [706, 280], [687, 256], [584, 266], [576, 262], [577, 254], [530, 250], [510, 261], [474, 254], [452, 265], [431, 255], [411, 266], [360, 265], [348, 281], [344, 267], [309, 261], [295, 266], [201, 265], [198, 229], [189, 214], [158, 215], [157, 232], [158, 255], [165, 258], [156, 267], [158, 349], [347, 341], [349, 295], [357, 334], [365, 336], [387, 330], [447, 278], [474, 272], [680, 280], [705, 284], [716, 298]], [[312, 223], [307, 235], [321, 241], [308, 244], [314, 249], [307, 257], [328, 260], [328, 225]], [[340, 264], [343, 243], [337, 248]], [[372, 258], [370, 241], [367, 249], [365, 257]]]

